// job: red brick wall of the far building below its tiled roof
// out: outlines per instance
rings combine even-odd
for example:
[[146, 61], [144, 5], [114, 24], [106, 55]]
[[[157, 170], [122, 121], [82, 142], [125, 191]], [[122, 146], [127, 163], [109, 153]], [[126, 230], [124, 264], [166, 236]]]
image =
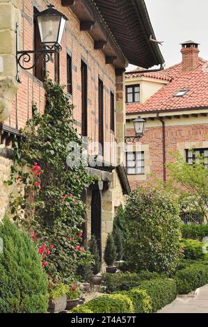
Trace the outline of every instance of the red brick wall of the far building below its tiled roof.
[[[187, 118], [189, 120], [189, 118]], [[198, 118], [196, 118], [197, 122]], [[170, 152], [178, 150], [179, 143], [208, 141], [208, 123], [196, 123], [195, 125], [166, 126], [166, 162], [173, 161]], [[127, 135], [134, 135], [133, 129], [127, 129]], [[147, 127], [145, 135], [141, 138], [143, 145], [149, 145], [149, 155], [151, 163], [151, 173], [163, 180], [163, 146], [162, 127]], [[184, 147], [184, 150], [186, 147]], [[150, 180], [150, 176], [147, 180]], [[166, 170], [166, 179], [168, 171]], [[136, 180], [130, 181], [131, 189], [145, 185], [147, 182]]]

